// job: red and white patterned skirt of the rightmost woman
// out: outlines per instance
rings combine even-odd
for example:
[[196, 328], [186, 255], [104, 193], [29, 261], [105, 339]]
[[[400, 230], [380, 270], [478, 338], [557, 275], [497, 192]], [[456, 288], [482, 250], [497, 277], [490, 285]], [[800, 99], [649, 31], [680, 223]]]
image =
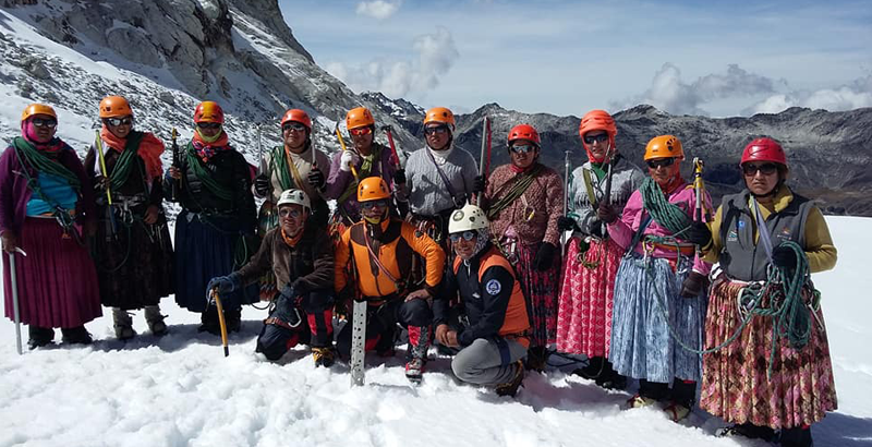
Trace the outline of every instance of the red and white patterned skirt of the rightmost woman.
[[[708, 318], [706, 348], [725, 342], [741, 325], [737, 297], [743, 283], [715, 281]], [[804, 291], [804, 299], [811, 295]], [[762, 305], [770, 306], [768, 295]], [[809, 343], [800, 350], [777, 340], [772, 375], [767, 376], [773, 342], [773, 319], [754, 316], [739, 338], [703, 357], [700, 408], [732, 423], [750, 422], [772, 428], [790, 428], [822, 420], [835, 410], [836, 387], [826, 340], [823, 313], [812, 316]]]

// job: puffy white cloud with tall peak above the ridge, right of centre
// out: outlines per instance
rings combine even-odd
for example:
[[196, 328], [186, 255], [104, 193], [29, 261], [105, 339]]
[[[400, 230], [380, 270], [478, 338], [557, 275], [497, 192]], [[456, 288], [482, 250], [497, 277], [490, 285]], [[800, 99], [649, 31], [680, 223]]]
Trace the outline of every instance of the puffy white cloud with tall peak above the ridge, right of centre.
[[647, 90], [622, 101], [615, 101], [611, 108], [650, 104], [669, 113], [707, 116], [708, 112], [700, 106], [708, 101], [775, 93], [775, 86], [780, 83], [784, 81], [776, 82], [749, 73], [738, 64], [729, 64], [725, 74], [707, 74], [688, 84], [681, 80], [681, 70], [666, 62], [654, 74]]

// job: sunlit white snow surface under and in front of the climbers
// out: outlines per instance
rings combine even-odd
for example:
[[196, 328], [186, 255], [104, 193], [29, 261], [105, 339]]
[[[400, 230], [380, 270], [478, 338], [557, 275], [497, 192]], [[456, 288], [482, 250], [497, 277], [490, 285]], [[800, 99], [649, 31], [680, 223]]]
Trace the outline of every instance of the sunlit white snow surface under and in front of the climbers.
[[[814, 279], [823, 291], [839, 411], [814, 426], [815, 445], [872, 445], [872, 277], [864, 242], [872, 219], [827, 221], [839, 262]], [[456, 383], [441, 358], [413, 388], [398, 353], [385, 364], [370, 357], [367, 385], [352, 388], [344, 364], [316, 369], [305, 348], [280, 363], [255, 354], [264, 311], [245, 309], [243, 330], [231, 336], [223, 358], [216, 337], [196, 333], [197, 315], [171, 298], [162, 306], [170, 334], [161, 339], [120, 342], [107, 313], [87, 325], [93, 346], [21, 357], [14, 325], [3, 319], [0, 446], [765, 445], [713, 437], [722, 422], [700, 410], [681, 424], [656, 409], [622, 410], [629, 395], [558, 370], [528, 376], [517, 399], [499, 398]], [[142, 312], [134, 327], [147, 331]]]

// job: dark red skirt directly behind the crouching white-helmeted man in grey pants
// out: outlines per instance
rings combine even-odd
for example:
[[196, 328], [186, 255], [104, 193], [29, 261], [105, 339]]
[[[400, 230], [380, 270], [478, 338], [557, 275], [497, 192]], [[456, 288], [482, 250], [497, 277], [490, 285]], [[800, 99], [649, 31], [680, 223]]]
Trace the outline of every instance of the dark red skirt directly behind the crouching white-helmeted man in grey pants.
[[[518, 244], [518, 262], [512, 263], [518, 281], [526, 298], [530, 316], [530, 346], [553, 343], [557, 334], [557, 288], [559, 287], [560, 258], [555, 256], [552, 267], [536, 270], [534, 259], [541, 243]], [[510, 258], [510, 261], [513, 261]]]

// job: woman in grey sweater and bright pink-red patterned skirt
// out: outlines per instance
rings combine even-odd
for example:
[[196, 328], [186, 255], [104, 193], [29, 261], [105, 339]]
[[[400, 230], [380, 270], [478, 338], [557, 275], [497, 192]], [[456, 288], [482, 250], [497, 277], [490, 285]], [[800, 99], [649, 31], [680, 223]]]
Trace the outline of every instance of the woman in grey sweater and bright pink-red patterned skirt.
[[[606, 231], [596, 215], [601, 203], [608, 203], [620, 215], [630, 194], [644, 179], [642, 170], [623, 158], [615, 147], [618, 129], [604, 110], [588, 112], [579, 125], [579, 136], [588, 161], [567, 180], [568, 216], [558, 219], [560, 231], [572, 231], [560, 288], [557, 313], [557, 350], [588, 355], [588, 366], [576, 370], [584, 378], [605, 388], [623, 388], [627, 378], [607, 361], [611, 338], [611, 307], [615, 275], [623, 250]], [[605, 197], [608, 169], [611, 190]]]

